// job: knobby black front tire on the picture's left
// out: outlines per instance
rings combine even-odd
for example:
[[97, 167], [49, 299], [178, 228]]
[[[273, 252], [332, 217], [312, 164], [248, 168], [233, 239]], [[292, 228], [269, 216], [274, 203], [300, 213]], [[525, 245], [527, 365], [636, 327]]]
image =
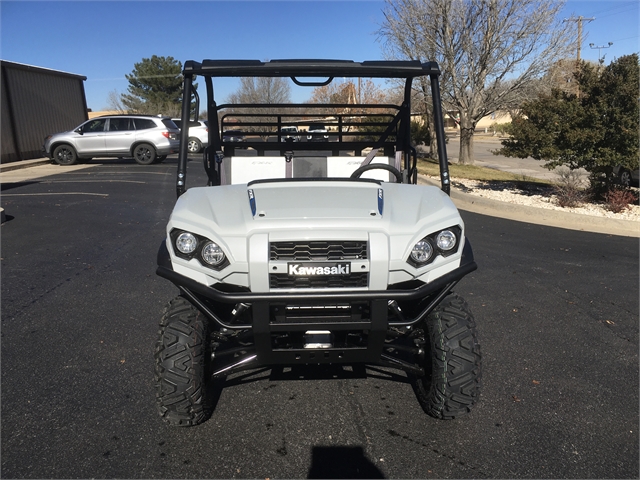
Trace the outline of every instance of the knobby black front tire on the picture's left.
[[186, 299], [165, 307], [155, 350], [158, 412], [169, 424], [193, 426], [213, 411], [209, 321]]

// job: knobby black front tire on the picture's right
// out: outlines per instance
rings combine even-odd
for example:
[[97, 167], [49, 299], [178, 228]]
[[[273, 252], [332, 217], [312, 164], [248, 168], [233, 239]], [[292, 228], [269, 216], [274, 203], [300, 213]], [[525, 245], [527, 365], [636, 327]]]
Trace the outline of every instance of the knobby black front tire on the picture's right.
[[422, 325], [425, 375], [411, 377], [422, 409], [439, 419], [469, 413], [478, 400], [482, 363], [476, 324], [467, 303], [447, 296]]

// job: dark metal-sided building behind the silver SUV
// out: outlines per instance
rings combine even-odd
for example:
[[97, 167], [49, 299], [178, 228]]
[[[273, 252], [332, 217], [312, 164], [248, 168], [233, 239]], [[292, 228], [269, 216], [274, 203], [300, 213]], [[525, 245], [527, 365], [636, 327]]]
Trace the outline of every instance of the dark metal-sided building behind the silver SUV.
[[45, 136], [87, 119], [87, 77], [0, 60], [1, 163], [40, 158]]

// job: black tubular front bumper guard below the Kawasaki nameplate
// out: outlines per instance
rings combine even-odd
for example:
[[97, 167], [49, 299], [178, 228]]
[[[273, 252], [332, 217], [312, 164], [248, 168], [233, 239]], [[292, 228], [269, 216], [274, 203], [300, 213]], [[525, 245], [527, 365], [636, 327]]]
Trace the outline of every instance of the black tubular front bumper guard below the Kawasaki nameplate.
[[[460, 266], [429, 284], [415, 288], [396, 288], [381, 291], [309, 292], [303, 293], [253, 293], [224, 292], [215, 286], [200, 284], [184, 275], [176, 273], [172, 266], [165, 242], [158, 252], [156, 273], [178, 287], [200, 312], [221, 328], [251, 330], [255, 345], [255, 356], [250, 364], [294, 365], [308, 363], [381, 363], [383, 348], [389, 327], [410, 327], [424, 319], [451, 289], [465, 275], [476, 270], [473, 252], [469, 242], [465, 242]], [[389, 319], [390, 305], [396, 302], [415, 302], [421, 307], [411, 318]], [[250, 305], [251, 321], [229, 322], [215, 311], [217, 305]], [[364, 311], [364, 315], [346, 314], [311, 315], [308, 317], [287, 317], [282, 312], [290, 306], [298, 308], [317, 305], [346, 304], [358, 306], [352, 311]], [[363, 346], [337, 346], [330, 348], [283, 348], [273, 343], [274, 336], [285, 332], [302, 335], [308, 331], [331, 331], [336, 335], [348, 332], [363, 332], [366, 344]], [[384, 363], [384, 362], [382, 362]]]

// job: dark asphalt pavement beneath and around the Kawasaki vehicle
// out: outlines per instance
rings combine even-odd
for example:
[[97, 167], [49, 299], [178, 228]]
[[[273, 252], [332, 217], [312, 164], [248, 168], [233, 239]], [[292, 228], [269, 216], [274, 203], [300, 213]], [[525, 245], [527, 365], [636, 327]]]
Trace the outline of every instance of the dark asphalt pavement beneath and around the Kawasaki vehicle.
[[2, 478], [640, 475], [637, 238], [462, 212], [478, 270], [456, 291], [483, 352], [464, 418], [426, 416], [388, 369], [261, 369], [172, 428], [153, 350], [177, 295], [155, 275], [175, 158], [38, 171], [2, 183]]

